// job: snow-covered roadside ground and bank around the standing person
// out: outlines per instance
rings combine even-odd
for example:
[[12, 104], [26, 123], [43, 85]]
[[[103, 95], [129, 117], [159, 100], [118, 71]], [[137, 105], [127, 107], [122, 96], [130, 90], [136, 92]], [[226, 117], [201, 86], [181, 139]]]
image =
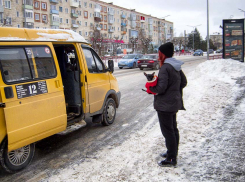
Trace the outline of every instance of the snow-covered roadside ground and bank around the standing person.
[[[186, 111], [178, 113], [177, 167], [162, 168], [166, 150], [152, 118], [121, 146], [109, 146], [42, 181], [245, 181], [245, 64], [210, 60], [187, 75]], [[137, 121], [140, 122], [140, 121]], [[64, 156], [65, 157], [65, 156]]]

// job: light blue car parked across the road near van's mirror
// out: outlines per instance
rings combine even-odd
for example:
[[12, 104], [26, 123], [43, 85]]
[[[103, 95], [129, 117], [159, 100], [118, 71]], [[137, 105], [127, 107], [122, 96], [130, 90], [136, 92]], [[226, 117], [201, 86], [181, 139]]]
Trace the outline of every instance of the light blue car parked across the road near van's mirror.
[[122, 68], [136, 68], [138, 66], [138, 59], [141, 58], [142, 54], [127, 54], [118, 62], [118, 67]]

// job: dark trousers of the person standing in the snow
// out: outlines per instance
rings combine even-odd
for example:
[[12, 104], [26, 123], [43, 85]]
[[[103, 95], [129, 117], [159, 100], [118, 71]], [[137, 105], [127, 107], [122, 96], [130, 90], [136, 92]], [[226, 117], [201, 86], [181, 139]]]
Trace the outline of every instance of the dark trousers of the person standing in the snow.
[[179, 146], [179, 130], [176, 112], [157, 111], [162, 134], [165, 138], [168, 158], [176, 158]]

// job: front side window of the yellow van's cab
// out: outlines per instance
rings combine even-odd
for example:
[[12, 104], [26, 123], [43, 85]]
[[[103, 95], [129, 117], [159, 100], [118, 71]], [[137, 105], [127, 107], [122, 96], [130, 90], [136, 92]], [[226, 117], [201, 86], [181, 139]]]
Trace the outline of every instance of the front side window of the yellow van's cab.
[[101, 73], [104, 71], [102, 61], [93, 50], [91, 51], [89, 48], [83, 48], [83, 52], [85, 55], [89, 73]]

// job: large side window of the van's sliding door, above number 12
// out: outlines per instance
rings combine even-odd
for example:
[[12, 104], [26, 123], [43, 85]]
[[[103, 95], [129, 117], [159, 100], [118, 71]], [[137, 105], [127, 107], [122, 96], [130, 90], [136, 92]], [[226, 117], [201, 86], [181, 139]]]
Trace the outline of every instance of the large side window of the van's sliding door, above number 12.
[[0, 64], [5, 82], [55, 77], [50, 49], [43, 47], [0, 47]]

